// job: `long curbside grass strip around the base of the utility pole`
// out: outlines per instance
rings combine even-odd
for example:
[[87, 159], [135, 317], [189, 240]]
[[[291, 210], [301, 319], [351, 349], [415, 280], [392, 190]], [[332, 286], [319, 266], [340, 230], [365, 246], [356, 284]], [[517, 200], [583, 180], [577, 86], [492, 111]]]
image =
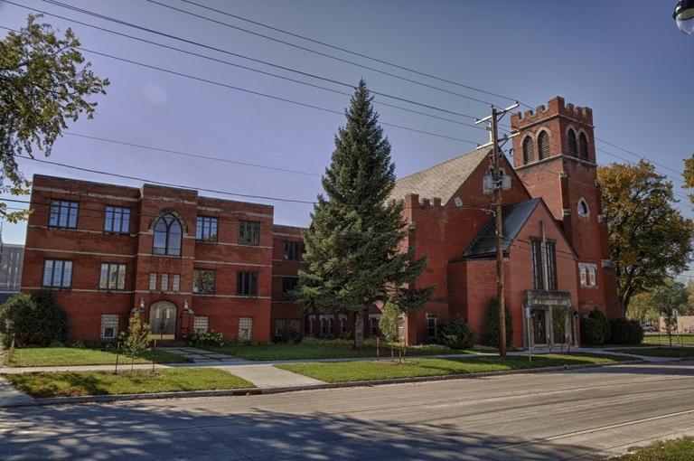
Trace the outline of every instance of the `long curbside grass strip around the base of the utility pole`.
[[407, 364], [357, 361], [357, 362], [308, 362], [283, 363], [277, 368], [295, 372], [325, 382], [349, 382], [441, 376], [478, 372], [526, 370], [563, 365], [610, 363], [632, 360], [629, 357], [596, 355], [587, 353], [534, 355], [529, 362], [527, 355], [501, 357], [451, 357], [437, 359], [412, 359]]

